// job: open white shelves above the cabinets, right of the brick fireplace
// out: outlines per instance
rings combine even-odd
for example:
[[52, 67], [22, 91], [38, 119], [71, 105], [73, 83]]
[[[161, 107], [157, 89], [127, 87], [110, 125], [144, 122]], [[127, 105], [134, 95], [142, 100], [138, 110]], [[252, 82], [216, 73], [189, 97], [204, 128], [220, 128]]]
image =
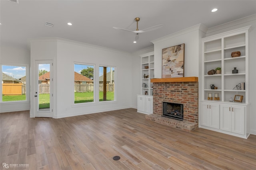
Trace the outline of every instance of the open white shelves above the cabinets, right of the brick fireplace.
[[[218, 93], [219, 102], [229, 102], [238, 94], [244, 96], [242, 103], [248, 103], [248, 29], [244, 27], [202, 39], [202, 100], [208, 100], [209, 93], [212, 96]], [[240, 57], [231, 57], [234, 51], [240, 51]], [[216, 67], [222, 68], [221, 74], [207, 74]], [[238, 69], [237, 74], [232, 74], [234, 67]], [[245, 82], [245, 90], [235, 90], [241, 82]], [[211, 89], [211, 84], [218, 89]]]

